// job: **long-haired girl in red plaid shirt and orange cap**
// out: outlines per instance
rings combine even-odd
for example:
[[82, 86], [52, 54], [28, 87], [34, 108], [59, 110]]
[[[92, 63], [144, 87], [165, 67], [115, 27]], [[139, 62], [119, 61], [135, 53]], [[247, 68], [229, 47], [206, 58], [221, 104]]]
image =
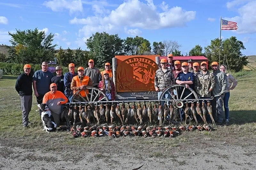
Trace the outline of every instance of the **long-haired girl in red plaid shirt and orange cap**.
[[[114, 82], [109, 77], [108, 71], [103, 71], [102, 81], [100, 81], [98, 88], [106, 94], [108, 100], [116, 100], [116, 87]], [[100, 94], [100, 99], [103, 98], [103, 95]]]

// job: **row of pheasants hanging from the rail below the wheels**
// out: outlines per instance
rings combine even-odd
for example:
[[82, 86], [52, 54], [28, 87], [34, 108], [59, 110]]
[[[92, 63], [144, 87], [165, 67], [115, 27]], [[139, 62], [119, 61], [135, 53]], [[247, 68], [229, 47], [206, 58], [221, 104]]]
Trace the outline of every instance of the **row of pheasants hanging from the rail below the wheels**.
[[[119, 105], [119, 102], [117, 102], [117, 106], [115, 106], [114, 102], [112, 102], [112, 105], [108, 103], [101, 103], [100, 106], [98, 106], [97, 103], [95, 106], [93, 104], [83, 106], [83, 104], [80, 103], [79, 106], [75, 105], [74, 107], [72, 107], [71, 105], [67, 105], [66, 107], [64, 107], [61, 114], [61, 119], [65, 118], [67, 124], [69, 125], [71, 121], [73, 122], [73, 124], [75, 124], [79, 121], [79, 119], [81, 123], [86, 122], [87, 124], [92, 124], [92, 122], [97, 124], [102, 124], [104, 122], [113, 124], [114, 122], [119, 122], [120, 120], [121, 124], [138, 123], [142, 125], [150, 122], [151, 124], [158, 123], [159, 125], [162, 125], [165, 123], [165, 121], [167, 121], [167, 117], [170, 117], [170, 122], [175, 119], [178, 109], [179, 108], [175, 107], [175, 105], [173, 104], [170, 104], [168, 107], [166, 102], [164, 106], [162, 106], [161, 101], [159, 103], [155, 102], [153, 106], [149, 101], [148, 107], [145, 101], [142, 106], [140, 102], [138, 102], [137, 108], [135, 102], [133, 102], [132, 106], [128, 102], [127, 107], [125, 107], [124, 102], [121, 104], [121, 107]], [[198, 125], [196, 114], [200, 115], [204, 124], [207, 124], [206, 116], [207, 114], [209, 114], [212, 119], [212, 123], [215, 124], [212, 117], [212, 106], [209, 100], [207, 101], [206, 106], [204, 100], [202, 101], [202, 106], [199, 100], [197, 100], [196, 104], [194, 104], [194, 101], [192, 101], [190, 107], [187, 101], [184, 113], [185, 124], [187, 124], [187, 118], [190, 113], [192, 113], [196, 121], [196, 125]]]

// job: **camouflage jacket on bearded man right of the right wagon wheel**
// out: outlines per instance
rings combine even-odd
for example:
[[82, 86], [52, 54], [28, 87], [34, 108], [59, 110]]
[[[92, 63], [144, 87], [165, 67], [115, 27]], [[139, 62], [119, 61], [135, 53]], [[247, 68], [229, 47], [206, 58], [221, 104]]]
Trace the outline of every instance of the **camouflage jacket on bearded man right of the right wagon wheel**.
[[206, 74], [203, 75], [202, 71], [196, 75], [195, 90], [199, 97], [211, 97], [210, 88], [215, 87], [214, 75], [207, 70]]

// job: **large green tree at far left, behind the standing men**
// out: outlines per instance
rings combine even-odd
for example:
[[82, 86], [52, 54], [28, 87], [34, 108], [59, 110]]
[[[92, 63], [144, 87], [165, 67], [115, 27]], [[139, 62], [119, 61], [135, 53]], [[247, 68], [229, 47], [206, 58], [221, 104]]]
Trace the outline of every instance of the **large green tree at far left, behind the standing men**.
[[54, 34], [46, 36], [44, 32], [35, 30], [17, 30], [10, 33], [10, 42], [14, 48], [9, 47], [7, 60], [14, 63], [38, 64], [42, 61], [51, 61], [56, 52], [57, 44], [52, 45]]

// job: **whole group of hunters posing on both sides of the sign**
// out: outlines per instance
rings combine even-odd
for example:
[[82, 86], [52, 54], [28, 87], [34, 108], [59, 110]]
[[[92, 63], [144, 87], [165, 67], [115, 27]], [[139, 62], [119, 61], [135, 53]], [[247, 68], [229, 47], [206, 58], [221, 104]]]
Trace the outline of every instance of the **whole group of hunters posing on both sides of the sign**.
[[[186, 90], [183, 96], [187, 96], [189, 88], [196, 91], [199, 98], [209, 98], [214, 96], [212, 101], [212, 110], [214, 120], [217, 124], [222, 124], [223, 103], [225, 108], [225, 122], [228, 125], [229, 111], [228, 99], [229, 90], [233, 90], [237, 85], [237, 80], [230, 74], [226, 73], [226, 66], [219, 65], [217, 62], [212, 63], [213, 72], [207, 70], [207, 63], [202, 62], [199, 66], [192, 59], [188, 63], [180, 64], [180, 61], [173, 61], [172, 54], [168, 55], [168, 60], [160, 61], [161, 68], [155, 74], [155, 89], [158, 92], [158, 99], [164, 89], [175, 83], [185, 85]], [[43, 62], [42, 69], [30, 74], [31, 66], [24, 65], [24, 73], [22, 73], [16, 81], [15, 89], [20, 95], [22, 109], [22, 124], [24, 128], [28, 128], [28, 114], [32, 106], [32, 85], [34, 94], [38, 104], [45, 103], [51, 110], [54, 121], [57, 126], [60, 123], [60, 113], [63, 104], [72, 102], [74, 94], [80, 91], [82, 97], [86, 97], [88, 90], [85, 87], [91, 87], [98, 84], [98, 88], [106, 94], [108, 100], [116, 99], [116, 88], [113, 82], [113, 73], [110, 69], [110, 63], [105, 63], [105, 70], [101, 71], [94, 67], [94, 61], [88, 61], [88, 67], [78, 67], [75, 72], [75, 64], [68, 65], [69, 71], [62, 74], [62, 68], [55, 68], [56, 76], [48, 70], [48, 63]], [[200, 70], [201, 68], [201, 70]], [[233, 85], [232, 85], [233, 83]], [[231, 87], [232, 85], [232, 87]], [[87, 93], [87, 94], [86, 94]], [[174, 94], [176, 92], [174, 91]], [[187, 95], [186, 95], [187, 94]], [[99, 99], [103, 98], [101, 94]], [[170, 94], [165, 95], [166, 99], [171, 99]], [[187, 98], [192, 99], [192, 98]], [[41, 110], [39, 109], [41, 115]]]

